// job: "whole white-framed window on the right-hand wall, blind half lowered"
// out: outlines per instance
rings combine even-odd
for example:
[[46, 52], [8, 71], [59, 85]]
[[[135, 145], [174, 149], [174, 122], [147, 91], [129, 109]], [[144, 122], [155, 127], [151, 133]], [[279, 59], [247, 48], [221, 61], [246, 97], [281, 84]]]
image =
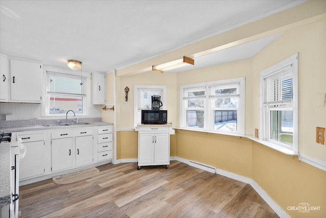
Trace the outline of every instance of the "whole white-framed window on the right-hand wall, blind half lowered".
[[260, 86], [260, 138], [297, 152], [297, 54], [263, 70]]

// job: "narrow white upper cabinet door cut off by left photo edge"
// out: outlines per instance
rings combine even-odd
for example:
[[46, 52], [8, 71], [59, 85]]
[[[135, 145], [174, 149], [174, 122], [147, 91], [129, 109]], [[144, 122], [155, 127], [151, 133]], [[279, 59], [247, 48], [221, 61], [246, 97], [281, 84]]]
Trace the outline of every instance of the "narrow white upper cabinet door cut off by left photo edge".
[[8, 102], [8, 57], [0, 54], [0, 101]]

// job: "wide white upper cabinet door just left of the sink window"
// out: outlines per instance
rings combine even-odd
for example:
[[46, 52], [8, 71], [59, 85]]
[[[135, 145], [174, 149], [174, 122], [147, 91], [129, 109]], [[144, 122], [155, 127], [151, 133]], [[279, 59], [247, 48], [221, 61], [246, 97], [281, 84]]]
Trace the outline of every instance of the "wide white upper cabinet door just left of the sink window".
[[41, 103], [42, 64], [10, 60], [10, 101]]

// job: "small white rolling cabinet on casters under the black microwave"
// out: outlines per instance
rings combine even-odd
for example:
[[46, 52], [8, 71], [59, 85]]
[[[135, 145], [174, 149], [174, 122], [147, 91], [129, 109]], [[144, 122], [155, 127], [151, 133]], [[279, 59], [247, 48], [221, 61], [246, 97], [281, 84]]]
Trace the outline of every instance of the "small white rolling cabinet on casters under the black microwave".
[[139, 127], [138, 169], [146, 165], [170, 164], [169, 128]]

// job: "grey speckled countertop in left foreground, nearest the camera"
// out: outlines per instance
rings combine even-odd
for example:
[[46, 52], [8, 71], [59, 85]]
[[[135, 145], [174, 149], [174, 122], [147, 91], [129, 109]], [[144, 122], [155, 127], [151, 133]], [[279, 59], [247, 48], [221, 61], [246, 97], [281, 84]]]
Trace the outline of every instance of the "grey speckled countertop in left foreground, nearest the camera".
[[10, 204], [10, 144], [0, 144], [0, 207]]

